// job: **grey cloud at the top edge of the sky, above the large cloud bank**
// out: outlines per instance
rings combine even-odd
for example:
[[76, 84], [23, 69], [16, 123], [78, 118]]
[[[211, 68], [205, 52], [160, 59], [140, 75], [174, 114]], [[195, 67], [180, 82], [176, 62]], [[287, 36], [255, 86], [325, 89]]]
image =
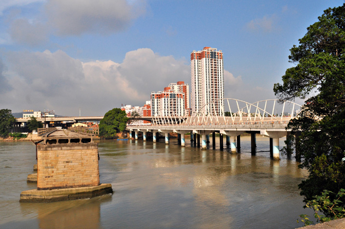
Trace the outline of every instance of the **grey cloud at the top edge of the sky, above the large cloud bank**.
[[97, 32], [109, 34], [126, 29], [145, 12], [145, 2], [126, 0], [49, 0], [46, 12], [59, 35]]

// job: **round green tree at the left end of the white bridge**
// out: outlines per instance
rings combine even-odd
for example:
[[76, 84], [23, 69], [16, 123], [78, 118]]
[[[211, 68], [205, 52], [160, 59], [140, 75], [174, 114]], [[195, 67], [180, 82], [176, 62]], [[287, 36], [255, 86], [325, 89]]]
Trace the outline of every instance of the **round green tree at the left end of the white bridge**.
[[126, 129], [128, 121], [126, 112], [120, 108], [109, 110], [99, 122], [99, 135], [105, 138], [114, 138], [116, 133]]

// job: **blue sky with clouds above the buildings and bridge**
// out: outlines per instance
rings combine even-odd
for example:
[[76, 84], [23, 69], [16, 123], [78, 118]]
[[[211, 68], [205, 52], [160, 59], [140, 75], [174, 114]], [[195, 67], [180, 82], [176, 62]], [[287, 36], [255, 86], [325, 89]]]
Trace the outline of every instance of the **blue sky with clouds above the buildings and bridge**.
[[190, 53], [203, 47], [223, 52], [225, 98], [274, 99], [291, 47], [343, 3], [0, 0], [0, 109], [102, 116], [143, 106], [151, 91], [190, 85]]

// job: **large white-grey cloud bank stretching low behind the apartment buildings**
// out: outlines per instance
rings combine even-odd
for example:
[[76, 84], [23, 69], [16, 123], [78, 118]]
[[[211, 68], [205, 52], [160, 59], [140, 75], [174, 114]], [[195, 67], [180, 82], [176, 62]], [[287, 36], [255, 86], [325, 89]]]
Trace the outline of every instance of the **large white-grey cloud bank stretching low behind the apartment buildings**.
[[104, 115], [121, 104], [144, 105], [151, 91], [190, 78], [190, 67], [150, 49], [128, 52], [122, 63], [81, 62], [63, 51], [10, 52], [5, 80], [13, 89], [0, 104], [13, 112], [54, 109], [61, 115]]

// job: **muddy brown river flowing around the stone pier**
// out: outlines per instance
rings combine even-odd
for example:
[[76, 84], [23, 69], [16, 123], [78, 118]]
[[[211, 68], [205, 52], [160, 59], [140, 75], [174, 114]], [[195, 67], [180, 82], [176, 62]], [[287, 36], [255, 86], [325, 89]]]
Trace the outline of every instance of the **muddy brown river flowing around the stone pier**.
[[[184, 148], [176, 139], [98, 142], [100, 180], [114, 193], [54, 203], [19, 203], [20, 192], [36, 188], [26, 183], [35, 145], [0, 142], [0, 228], [289, 229], [303, 226], [299, 214], [312, 215], [297, 187], [307, 172], [284, 156], [252, 156], [249, 136], [238, 155], [219, 144], [194, 148], [188, 139]], [[269, 150], [268, 138], [256, 144]]]

